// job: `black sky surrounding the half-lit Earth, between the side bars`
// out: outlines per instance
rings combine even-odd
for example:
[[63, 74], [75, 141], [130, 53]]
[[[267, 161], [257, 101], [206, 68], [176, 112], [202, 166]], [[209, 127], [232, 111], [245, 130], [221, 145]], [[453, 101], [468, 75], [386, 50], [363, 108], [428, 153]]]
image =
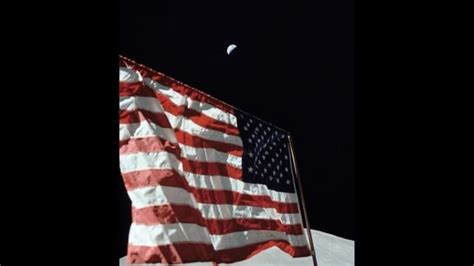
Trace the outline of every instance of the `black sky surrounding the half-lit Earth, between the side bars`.
[[353, 1], [212, 2], [121, 0], [120, 53], [291, 132], [311, 227], [354, 239]]

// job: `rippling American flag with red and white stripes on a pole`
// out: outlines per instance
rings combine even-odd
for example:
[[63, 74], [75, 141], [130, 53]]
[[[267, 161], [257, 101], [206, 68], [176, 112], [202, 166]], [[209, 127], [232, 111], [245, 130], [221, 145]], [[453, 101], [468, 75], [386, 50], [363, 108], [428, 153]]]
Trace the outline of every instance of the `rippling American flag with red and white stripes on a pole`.
[[288, 133], [119, 56], [129, 263], [310, 256]]

